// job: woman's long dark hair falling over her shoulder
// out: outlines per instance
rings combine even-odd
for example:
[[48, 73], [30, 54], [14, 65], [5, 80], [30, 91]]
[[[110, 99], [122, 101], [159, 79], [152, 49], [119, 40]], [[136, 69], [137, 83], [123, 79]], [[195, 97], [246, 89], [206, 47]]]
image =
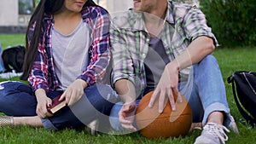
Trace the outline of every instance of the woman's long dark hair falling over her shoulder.
[[[32, 17], [28, 23], [26, 30], [26, 55], [24, 59], [24, 64], [22, 67], [23, 74], [20, 76], [21, 80], [26, 80], [32, 71], [32, 65], [36, 58], [38, 52], [38, 44], [40, 42], [40, 37], [42, 33], [43, 18], [44, 14], [55, 14], [59, 12], [63, 6], [65, 0], [41, 0], [38, 3], [37, 9], [35, 9]], [[88, 0], [84, 7], [97, 6], [92, 0]], [[29, 42], [28, 32], [29, 29], [36, 23], [34, 32], [32, 34], [32, 39]]]

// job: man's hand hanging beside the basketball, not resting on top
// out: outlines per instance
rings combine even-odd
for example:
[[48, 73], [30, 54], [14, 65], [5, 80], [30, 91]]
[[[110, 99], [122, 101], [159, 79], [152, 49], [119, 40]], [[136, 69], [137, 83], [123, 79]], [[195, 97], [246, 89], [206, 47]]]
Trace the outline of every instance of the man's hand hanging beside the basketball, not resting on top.
[[137, 131], [133, 122], [135, 119], [136, 102], [124, 104], [119, 111], [119, 122], [127, 130]]

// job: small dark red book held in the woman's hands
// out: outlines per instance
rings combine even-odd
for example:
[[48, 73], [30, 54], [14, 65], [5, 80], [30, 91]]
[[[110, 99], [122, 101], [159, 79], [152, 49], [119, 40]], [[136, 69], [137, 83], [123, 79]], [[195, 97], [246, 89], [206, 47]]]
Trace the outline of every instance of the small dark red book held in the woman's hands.
[[61, 98], [61, 95], [56, 96], [54, 99], [52, 99], [51, 106], [47, 107], [47, 110], [54, 114], [55, 112], [58, 112], [62, 107], [65, 107], [67, 104], [65, 103], [65, 99], [59, 101]]

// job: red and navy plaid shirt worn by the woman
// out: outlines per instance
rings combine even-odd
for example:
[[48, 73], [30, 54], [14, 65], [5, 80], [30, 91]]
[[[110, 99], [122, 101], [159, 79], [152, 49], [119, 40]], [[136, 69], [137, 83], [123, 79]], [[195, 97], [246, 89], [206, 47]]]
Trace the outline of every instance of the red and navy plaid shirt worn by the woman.
[[[101, 80], [106, 72], [110, 60], [109, 51], [109, 26], [108, 12], [101, 7], [86, 7], [82, 10], [84, 23], [91, 29], [91, 44], [89, 49], [90, 64], [84, 69], [79, 78], [91, 85]], [[38, 53], [32, 66], [32, 72], [28, 82], [32, 89], [53, 90], [59, 86], [55, 74], [55, 67], [52, 56], [51, 30], [54, 25], [53, 15], [45, 14], [43, 20], [43, 33], [38, 44]], [[28, 39], [30, 41], [34, 27], [30, 27]], [[84, 37], [86, 39], [86, 37]]]

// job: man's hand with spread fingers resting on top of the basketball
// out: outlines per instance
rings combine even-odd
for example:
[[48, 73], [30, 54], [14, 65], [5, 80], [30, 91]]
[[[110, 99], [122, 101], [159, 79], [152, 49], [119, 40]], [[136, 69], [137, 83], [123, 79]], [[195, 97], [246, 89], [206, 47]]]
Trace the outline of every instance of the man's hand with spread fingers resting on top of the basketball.
[[[164, 110], [164, 103], [166, 97], [168, 97], [170, 104], [172, 106], [172, 111], [176, 111], [173, 93], [179, 95], [177, 84], [178, 64], [177, 61], [172, 61], [166, 65], [165, 70], [160, 78], [159, 84], [157, 84], [156, 89], [154, 89], [154, 94], [150, 99], [148, 107], [153, 107], [154, 101], [159, 97], [159, 112], [161, 113]], [[179, 102], [182, 102], [180, 96], [177, 96], [177, 98]]]

